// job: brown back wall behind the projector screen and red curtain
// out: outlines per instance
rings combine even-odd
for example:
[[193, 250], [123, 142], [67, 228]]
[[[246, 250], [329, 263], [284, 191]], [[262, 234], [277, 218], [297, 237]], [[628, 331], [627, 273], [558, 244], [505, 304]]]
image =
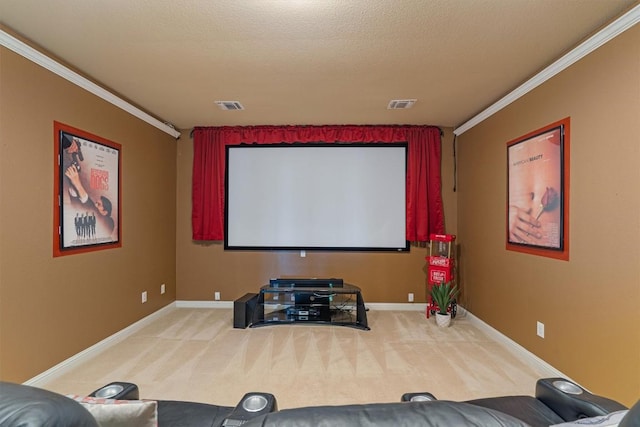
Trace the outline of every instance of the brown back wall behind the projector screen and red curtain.
[[[453, 134], [445, 129], [442, 143], [443, 202], [446, 227], [456, 230], [453, 185]], [[193, 143], [178, 142], [178, 237], [177, 299], [231, 301], [247, 292], [257, 292], [272, 277], [341, 277], [362, 289], [365, 302], [426, 301], [424, 272], [427, 249], [408, 253], [314, 252], [305, 258], [299, 252], [224, 251], [222, 244], [202, 244], [191, 239], [191, 169]]]

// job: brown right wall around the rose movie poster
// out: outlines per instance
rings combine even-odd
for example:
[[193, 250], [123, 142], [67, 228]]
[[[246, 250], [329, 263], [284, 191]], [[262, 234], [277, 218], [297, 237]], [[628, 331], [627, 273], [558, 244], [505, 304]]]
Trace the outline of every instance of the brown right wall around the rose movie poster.
[[[638, 46], [636, 26], [462, 134], [458, 167], [466, 307], [628, 405], [640, 396]], [[570, 260], [506, 251], [506, 142], [568, 116]]]

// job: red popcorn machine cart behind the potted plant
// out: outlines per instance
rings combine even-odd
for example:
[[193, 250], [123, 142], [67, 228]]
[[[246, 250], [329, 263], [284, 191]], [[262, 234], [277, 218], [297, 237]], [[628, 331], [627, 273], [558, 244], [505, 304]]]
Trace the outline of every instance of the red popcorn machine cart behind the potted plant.
[[[453, 234], [431, 234], [429, 235], [429, 256], [426, 258], [427, 266], [427, 319], [429, 314], [438, 310], [435, 302], [431, 298], [431, 287], [437, 283], [447, 283], [454, 279], [455, 269], [455, 241]], [[455, 312], [452, 311], [452, 317]]]

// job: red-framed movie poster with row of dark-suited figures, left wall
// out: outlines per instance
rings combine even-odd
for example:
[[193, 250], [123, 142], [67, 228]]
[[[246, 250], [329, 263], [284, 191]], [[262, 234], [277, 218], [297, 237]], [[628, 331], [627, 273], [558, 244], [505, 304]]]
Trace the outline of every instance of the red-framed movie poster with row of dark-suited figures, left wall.
[[120, 144], [58, 122], [54, 142], [54, 256], [120, 247]]

